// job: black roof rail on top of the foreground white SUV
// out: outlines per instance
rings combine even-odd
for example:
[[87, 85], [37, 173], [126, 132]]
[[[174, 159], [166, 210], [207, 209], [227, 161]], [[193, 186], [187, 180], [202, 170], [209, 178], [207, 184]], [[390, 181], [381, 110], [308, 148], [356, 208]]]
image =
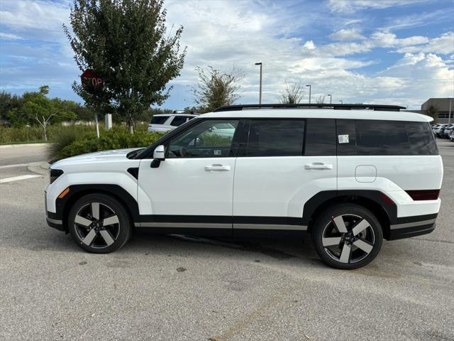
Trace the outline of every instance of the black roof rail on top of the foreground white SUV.
[[406, 109], [399, 105], [387, 104], [237, 104], [218, 107], [214, 112], [231, 112], [244, 109], [372, 109], [377, 111], [399, 112], [400, 109]]

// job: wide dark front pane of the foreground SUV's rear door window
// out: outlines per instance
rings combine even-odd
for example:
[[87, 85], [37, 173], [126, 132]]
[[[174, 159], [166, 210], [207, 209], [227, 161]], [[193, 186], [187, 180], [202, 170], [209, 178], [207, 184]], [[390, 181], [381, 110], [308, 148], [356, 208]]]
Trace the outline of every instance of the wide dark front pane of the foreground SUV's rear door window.
[[248, 156], [301, 156], [304, 120], [251, 120]]

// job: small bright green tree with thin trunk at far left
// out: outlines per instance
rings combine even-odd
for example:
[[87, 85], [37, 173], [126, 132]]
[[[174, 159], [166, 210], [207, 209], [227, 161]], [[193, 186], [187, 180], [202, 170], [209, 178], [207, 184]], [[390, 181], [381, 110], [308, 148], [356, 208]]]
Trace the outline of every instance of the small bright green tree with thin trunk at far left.
[[26, 92], [23, 94], [24, 104], [22, 112], [27, 115], [29, 119], [33, 119], [43, 127], [43, 136], [45, 141], [48, 141], [47, 128], [52, 119], [55, 117], [62, 117], [67, 119], [74, 119], [76, 115], [70, 110], [72, 105], [61, 99], [48, 99], [46, 94], [49, 93], [49, 87], [43, 85], [40, 87], [39, 92]]

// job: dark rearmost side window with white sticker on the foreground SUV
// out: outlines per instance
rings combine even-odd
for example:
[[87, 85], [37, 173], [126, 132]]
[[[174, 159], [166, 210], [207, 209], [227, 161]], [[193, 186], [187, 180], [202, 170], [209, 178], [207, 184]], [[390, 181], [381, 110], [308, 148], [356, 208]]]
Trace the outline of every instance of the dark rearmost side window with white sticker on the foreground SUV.
[[434, 155], [424, 122], [338, 119], [338, 155]]

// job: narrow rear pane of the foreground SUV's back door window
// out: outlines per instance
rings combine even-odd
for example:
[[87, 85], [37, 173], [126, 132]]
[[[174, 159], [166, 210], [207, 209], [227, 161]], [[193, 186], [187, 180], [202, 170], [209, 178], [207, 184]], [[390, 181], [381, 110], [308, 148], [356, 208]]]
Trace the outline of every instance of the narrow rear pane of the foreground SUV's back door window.
[[305, 156], [336, 155], [336, 121], [307, 119]]

